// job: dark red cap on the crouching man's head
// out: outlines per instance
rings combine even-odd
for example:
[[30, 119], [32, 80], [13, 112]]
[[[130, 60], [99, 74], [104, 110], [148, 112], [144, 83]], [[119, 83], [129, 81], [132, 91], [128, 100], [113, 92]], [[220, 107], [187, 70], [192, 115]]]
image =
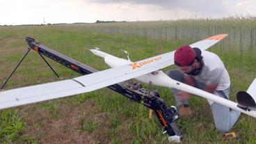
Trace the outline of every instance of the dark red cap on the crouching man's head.
[[189, 66], [195, 60], [195, 56], [195, 51], [189, 45], [184, 45], [175, 51], [174, 61], [179, 67]]

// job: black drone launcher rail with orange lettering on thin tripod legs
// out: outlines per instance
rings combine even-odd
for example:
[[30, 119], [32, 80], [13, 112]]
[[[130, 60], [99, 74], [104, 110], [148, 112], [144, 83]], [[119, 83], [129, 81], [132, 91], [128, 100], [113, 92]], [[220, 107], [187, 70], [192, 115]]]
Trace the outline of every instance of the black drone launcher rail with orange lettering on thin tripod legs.
[[[37, 51], [40, 56], [47, 56], [48, 58], [61, 63], [65, 67], [74, 70], [74, 72], [82, 75], [98, 72], [98, 70], [94, 69], [93, 67], [89, 67], [88, 65], [85, 65], [79, 61], [75, 61], [74, 59], [58, 53], [49, 47], [41, 45], [39, 42], [35, 42], [33, 38], [26, 38], [26, 42], [29, 44], [29, 49]], [[45, 60], [45, 62], [47, 61]], [[175, 106], [166, 106], [165, 102], [159, 97], [159, 93], [157, 93], [156, 90], [150, 91], [142, 88], [142, 86], [138, 83], [128, 82], [116, 83], [112, 86], [108, 86], [108, 88], [134, 100], [135, 102], [138, 102], [139, 104], [143, 104], [147, 108], [152, 109], [163, 126], [164, 133], [167, 133], [169, 136], [178, 136], [179, 138], [182, 138], [182, 134], [175, 123], [175, 120], [179, 118], [177, 109]]]

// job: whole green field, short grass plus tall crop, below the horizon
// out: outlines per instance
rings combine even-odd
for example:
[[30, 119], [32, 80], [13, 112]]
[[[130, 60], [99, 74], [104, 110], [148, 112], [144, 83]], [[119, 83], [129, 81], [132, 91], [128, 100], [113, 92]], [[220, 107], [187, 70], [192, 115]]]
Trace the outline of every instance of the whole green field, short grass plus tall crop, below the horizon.
[[[247, 90], [256, 77], [255, 18], [184, 19], [174, 22], [129, 22], [51, 26], [0, 26], [0, 83], [25, 54], [26, 36], [86, 63], [97, 70], [108, 66], [88, 51], [99, 47], [131, 61], [163, 54], [218, 33], [229, 37], [209, 51], [221, 57], [232, 81], [231, 99]], [[79, 74], [49, 60], [61, 79]], [[170, 66], [163, 71], [175, 66]], [[10, 79], [6, 89], [57, 81], [53, 72], [31, 51]], [[145, 86], [147, 87], [147, 86]], [[168, 106], [175, 100], [171, 90], [157, 88]], [[185, 135], [183, 143], [256, 143], [256, 120], [241, 115], [232, 129], [239, 138], [224, 141], [216, 131], [207, 101], [190, 99], [193, 118], [177, 120]], [[0, 111], [0, 143], [168, 143], [167, 135], [148, 109], [108, 88], [63, 99]]]

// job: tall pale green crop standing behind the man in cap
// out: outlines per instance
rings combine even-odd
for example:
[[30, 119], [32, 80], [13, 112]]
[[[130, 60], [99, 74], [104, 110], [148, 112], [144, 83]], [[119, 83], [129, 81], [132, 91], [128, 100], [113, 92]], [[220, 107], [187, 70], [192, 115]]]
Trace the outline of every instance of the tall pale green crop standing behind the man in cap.
[[228, 33], [224, 47], [246, 51], [256, 49], [256, 17], [228, 17], [221, 19], [180, 19], [175, 21], [128, 22], [92, 24], [99, 33], [126, 33], [157, 40], [182, 41], [184, 44], [207, 38], [209, 35]]

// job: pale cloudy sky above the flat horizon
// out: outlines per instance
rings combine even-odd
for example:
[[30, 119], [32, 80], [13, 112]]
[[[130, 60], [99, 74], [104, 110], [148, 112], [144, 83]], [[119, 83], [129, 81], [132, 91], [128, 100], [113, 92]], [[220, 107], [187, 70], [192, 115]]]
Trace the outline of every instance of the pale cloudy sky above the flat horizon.
[[255, 16], [255, 0], [0, 0], [0, 25]]

